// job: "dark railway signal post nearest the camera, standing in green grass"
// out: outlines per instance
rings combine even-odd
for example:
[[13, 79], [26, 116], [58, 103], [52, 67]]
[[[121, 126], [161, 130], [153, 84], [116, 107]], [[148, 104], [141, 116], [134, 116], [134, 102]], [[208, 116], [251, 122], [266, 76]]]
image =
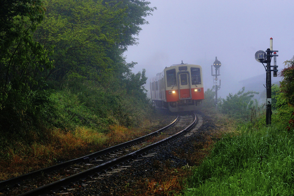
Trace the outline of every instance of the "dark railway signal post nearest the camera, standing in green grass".
[[[276, 64], [278, 57], [278, 50], [273, 50], [273, 38], [270, 38], [270, 48], [266, 50], [266, 53], [262, 50], [259, 50], [255, 53], [255, 59], [257, 62], [266, 63], [266, 66], [263, 64], [266, 72], [266, 125], [271, 124], [272, 121], [272, 81], [271, 81], [271, 72], [273, 71], [273, 77], [278, 76], [278, 66]], [[274, 53], [274, 54], [273, 54]], [[274, 65], [271, 66], [270, 62], [272, 57], [274, 57]], [[273, 68], [273, 69], [271, 69]]]

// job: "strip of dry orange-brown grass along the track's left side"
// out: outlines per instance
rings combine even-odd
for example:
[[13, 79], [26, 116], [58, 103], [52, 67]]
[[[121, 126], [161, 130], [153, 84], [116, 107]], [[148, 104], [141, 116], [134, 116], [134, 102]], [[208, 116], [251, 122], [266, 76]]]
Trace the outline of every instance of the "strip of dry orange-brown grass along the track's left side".
[[[0, 181], [22, 175], [56, 164], [57, 160], [70, 160], [76, 157], [102, 150], [114, 144], [126, 142], [147, 134], [150, 126], [156, 122], [145, 120], [141, 128], [126, 128], [120, 125], [109, 126], [108, 133], [99, 133], [94, 129], [77, 127], [74, 131], [45, 129], [46, 141], [29, 132], [28, 143], [16, 142], [13, 147], [2, 150], [5, 160], [0, 160]], [[145, 131], [141, 131], [144, 129]]]

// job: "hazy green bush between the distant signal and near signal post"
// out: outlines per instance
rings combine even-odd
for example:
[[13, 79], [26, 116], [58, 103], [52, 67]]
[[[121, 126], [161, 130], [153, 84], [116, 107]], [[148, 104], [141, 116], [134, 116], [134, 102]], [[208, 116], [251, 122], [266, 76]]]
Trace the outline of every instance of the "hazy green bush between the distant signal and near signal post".
[[254, 103], [252, 100], [254, 94], [258, 94], [258, 92], [245, 92], [245, 87], [234, 95], [230, 93], [220, 104], [220, 111], [235, 118], [249, 120], [251, 111], [258, 108], [257, 101], [255, 100]]

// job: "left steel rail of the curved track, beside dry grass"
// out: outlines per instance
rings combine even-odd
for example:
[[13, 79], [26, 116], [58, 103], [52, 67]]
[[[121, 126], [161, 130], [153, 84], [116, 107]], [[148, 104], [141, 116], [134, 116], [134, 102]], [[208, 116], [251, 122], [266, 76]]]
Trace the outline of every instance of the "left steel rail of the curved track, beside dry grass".
[[39, 176], [39, 175], [48, 174], [48, 173], [51, 173], [51, 172], [53, 172], [55, 170], [59, 170], [59, 169], [64, 168], [64, 167], [68, 167], [70, 165], [79, 164], [81, 162], [87, 162], [87, 161], [92, 160], [94, 158], [97, 158], [97, 157], [99, 157], [101, 155], [105, 155], [105, 154], [110, 153], [110, 152], [113, 152], [115, 150], [122, 149], [124, 147], [128, 147], [128, 146], [130, 146], [132, 144], [136, 144], [136, 143], [138, 143], [138, 142], [146, 139], [147, 137], [151, 137], [153, 135], [156, 135], [156, 134], [158, 134], [158, 133], [160, 133], [160, 132], [162, 132], [162, 131], [170, 128], [170, 127], [172, 127], [174, 124], [176, 124], [176, 122], [178, 121], [178, 119], [179, 119], [179, 115], [177, 116], [177, 118], [171, 124], [167, 125], [166, 127], [163, 127], [163, 128], [161, 128], [161, 129], [159, 129], [159, 130], [157, 130], [155, 132], [152, 132], [150, 134], [144, 135], [142, 137], [139, 137], [139, 138], [130, 140], [128, 142], [117, 144], [115, 146], [112, 146], [112, 147], [109, 147], [109, 148], [100, 150], [98, 152], [94, 152], [92, 154], [89, 154], [89, 155], [86, 155], [86, 156], [83, 156], [83, 157], [79, 157], [77, 159], [73, 159], [73, 160], [69, 160], [69, 161], [66, 161], [66, 162], [62, 162], [62, 163], [59, 163], [59, 164], [56, 164], [56, 165], [52, 165], [50, 167], [46, 167], [44, 169], [36, 170], [34, 172], [30, 172], [30, 173], [27, 173], [27, 174], [24, 174], [24, 175], [20, 175], [20, 176], [17, 176], [17, 177], [8, 179], [8, 180], [1, 181], [0, 182], [0, 190], [3, 190], [5, 187], [13, 187], [16, 184], [21, 184], [25, 180], [28, 180], [28, 179], [30, 179], [32, 177], [36, 177], [36, 176]]

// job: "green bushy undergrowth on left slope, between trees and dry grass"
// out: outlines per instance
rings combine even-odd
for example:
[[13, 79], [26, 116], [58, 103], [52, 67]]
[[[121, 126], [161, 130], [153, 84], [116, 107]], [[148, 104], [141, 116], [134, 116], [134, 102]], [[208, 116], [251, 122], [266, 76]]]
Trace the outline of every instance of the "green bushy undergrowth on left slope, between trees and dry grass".
[[83, 126], [105, 132], [110, 124], [134, 126], [151, 111], [147, 99], [139, 99], [126, 90], [106, 89], [80, 77], [72, 77], [51, 99], [53, 109], [47, 118], [54, 127], [68, 130]]

